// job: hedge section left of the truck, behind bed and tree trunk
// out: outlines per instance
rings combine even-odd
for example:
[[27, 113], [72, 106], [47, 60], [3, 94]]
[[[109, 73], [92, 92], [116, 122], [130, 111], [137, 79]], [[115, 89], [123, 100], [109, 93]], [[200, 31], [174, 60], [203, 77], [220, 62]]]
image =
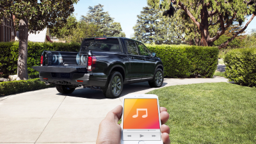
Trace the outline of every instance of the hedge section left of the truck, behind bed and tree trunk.
[[[28, 73], [35, 72], [32, 66], [40, 65], [43, 51], [74, 51], [80, 49], [79, 43], [39, 43], [28, 42]], [[17, 74], [19, 42], [0, 42], [0, 72], [3, 77]]]

